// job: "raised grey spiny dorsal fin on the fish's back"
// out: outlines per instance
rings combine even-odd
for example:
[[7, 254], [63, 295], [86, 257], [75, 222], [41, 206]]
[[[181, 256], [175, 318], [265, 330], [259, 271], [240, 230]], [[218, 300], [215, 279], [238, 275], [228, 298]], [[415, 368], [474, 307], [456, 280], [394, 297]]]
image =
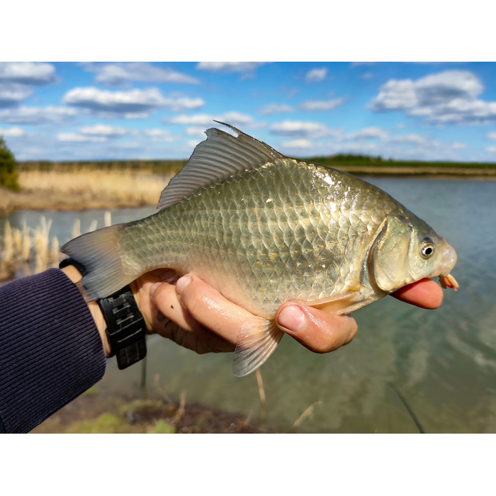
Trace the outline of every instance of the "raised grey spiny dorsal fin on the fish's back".
[[179, 203], [207, 184], [267, 162], [274, 162], [275, 159], [286, 158], [274, 148], [245, 135], [232, 125], [218, 120], [214, 122], [231, 128], [237, 136], [216, 128], [206, 130], [207, 139], [196, 145], [188, 163], [162, 191], [157, 205], [159, 210]]

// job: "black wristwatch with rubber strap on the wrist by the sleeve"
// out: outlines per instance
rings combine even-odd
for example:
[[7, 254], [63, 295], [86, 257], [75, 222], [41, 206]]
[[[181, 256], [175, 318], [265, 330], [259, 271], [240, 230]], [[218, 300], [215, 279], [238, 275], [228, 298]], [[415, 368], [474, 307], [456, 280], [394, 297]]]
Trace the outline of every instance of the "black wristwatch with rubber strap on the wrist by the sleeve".
[[[83, 276], [87, 274], [84, 266], [73, 259], [62, 260], [59, 267], [63, 269], [68, 265], [74, 265]], [[105, 332], [111, 346], [111, 356], [115, 354], [117, 357], [118, 367], [127, 368], [144, 359], [147, 354], [147, 327], [130, 286], [97, 300], [97, 303], [107, 324]]]

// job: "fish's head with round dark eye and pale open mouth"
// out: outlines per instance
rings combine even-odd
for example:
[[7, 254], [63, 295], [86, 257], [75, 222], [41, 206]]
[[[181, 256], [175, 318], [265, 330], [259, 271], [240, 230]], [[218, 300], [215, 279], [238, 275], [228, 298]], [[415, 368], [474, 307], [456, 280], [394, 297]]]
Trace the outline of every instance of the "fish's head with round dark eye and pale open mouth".
[[[371, 281], [392, 293], [425, 277], [439, 276], [441, 285], [458, 288], [451, 269], [456, 252], [444, 237], [419, 218], [389, 216], [376, 236], [369, 252]], [[450, 283], [451, 281], [451, 283]]]

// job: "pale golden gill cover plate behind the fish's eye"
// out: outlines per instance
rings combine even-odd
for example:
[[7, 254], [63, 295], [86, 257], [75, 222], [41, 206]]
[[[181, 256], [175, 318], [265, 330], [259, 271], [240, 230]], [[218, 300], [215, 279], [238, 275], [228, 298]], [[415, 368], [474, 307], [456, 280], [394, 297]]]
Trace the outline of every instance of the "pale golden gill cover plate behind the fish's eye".
[[369, 255], [369, 267], [377, 286], [390, 293], [408, 283], [408, 251], [412, 226], [400, 217], [384, 221]]

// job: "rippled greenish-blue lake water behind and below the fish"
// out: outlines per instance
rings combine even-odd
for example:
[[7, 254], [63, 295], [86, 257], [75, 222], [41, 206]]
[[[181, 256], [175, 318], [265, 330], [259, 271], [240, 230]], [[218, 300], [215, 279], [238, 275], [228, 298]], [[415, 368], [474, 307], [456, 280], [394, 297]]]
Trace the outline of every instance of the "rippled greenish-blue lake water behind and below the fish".
[[[354, 314], [359, 333], [331, 354], [312, 354], [285, 337], [261, 368], [266, 424], [288, 429], [310, 405], [296, 432], [418, 432], [394, 388], [426, 432], [496, 432], [496, 182], [369, 179], [398, 198], [455, 247], [458, 293], [446, 290], [438, 310], [384, 298]], [[113, 222], [149, 209], [115, 210]], [[13, 225], [53, 219], [51, 235], [67, 241], [75, 218], [81, 231], [103, 211], [22, 212]], [[3, 226], [0, 220], [0, 232]], [[254, 374], [235, 378], [231, 354], [198, 356], [160, 337], [148, 338], [147, 389], [202, 402], [257, 421]], [[140, 394], [140, 365], [119, 371], [114, 359], [98, 385], [106, 393]], [[392, 386], [393, 385], [393, 386]]]

